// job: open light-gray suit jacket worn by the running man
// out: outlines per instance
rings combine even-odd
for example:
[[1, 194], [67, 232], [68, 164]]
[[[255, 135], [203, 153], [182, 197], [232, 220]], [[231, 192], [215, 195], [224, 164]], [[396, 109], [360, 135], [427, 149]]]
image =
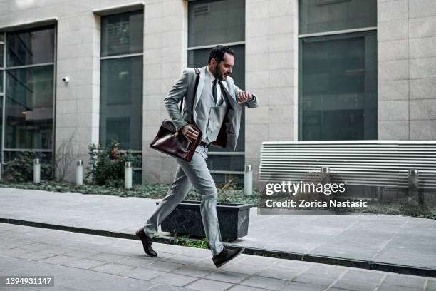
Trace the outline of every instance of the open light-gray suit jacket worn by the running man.
[[[197, 78], [195, 69], [185, 68], [182, 77], [174, 84], [174, 86], [172, 86], [167, 97], [164, 99], [165, 107], [167, 108], [168, 114], [170, 115], [172, 123], [174, 123], [177, 131], [192, 120], [194, 123], [197, 123], [197, 113], [195, 112], [195, 108], [204, 88], [204, 80], [207, 73], [206, 68], [206, 66], [200, 68], [196, 96], [194, 96], [195, 80]], [[242, 90], [234, 84], [233, 78], [228, 76], [225, 81], [222, 81], [222, 84], [225, 89], [223, 93], [227, 95], [229, 106], [221, 130], [219, 131], [217, 141], [214, 142], [214, 145], [228, 148], [229, 150], [235, 150], [241, 125], [241, 106], [255, 108], [259, 106], [259, 103], [258, 98], [254, 96], [254, 101], [246, 101], [245, 103], [239, 104], [237, 102], [237, 93]], [[182, 98], [185, 98], [183, 104], [183, 115], [180, 113], [177, 106], [177, 103], [182, 101]], [[194, 106], [192, 106], [192, 104], [194, 104]], [[192, 107], [194, 107], [194, 112], [192, 112]]]

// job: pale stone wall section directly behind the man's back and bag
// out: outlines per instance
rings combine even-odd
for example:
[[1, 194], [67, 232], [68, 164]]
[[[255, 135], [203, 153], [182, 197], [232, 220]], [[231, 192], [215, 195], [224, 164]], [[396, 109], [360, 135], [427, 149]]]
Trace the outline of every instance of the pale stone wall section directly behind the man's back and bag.
[[174, 158], [150, 148], [164, 119], [163, 98], [187, 67], [187, 2], [147, 1], [144, 15], [144, 105], [142, 182], [170, 183]]

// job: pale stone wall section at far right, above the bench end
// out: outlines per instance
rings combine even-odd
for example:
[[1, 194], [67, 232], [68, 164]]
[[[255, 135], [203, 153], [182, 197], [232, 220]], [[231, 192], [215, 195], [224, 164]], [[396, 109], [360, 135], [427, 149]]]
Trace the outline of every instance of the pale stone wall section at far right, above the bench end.
[[378, 0], [378, 139], [436, 138], [436, 1]]

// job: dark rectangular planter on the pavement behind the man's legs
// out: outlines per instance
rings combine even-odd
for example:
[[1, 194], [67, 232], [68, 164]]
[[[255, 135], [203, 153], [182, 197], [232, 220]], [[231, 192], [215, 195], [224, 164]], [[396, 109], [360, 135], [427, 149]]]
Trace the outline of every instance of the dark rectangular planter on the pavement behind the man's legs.
[[[156, 203], [158, 205], [159, 202]], [[224, 242], [242, 238], [248, 232], [251, 204], [217, 203], [219, 230]], [[182, 200], [175, 210], [165, 218], [162, 231], [172, 235], [189, 235], [204, 238], [200, 201]]]

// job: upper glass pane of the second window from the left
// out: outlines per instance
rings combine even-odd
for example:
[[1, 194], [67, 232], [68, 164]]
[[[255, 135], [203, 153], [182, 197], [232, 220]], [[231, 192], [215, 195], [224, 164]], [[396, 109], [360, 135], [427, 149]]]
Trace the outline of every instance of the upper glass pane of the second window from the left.
[[104, 16], [101, 19], [101, 56], [142, 53], [142, 11]]

